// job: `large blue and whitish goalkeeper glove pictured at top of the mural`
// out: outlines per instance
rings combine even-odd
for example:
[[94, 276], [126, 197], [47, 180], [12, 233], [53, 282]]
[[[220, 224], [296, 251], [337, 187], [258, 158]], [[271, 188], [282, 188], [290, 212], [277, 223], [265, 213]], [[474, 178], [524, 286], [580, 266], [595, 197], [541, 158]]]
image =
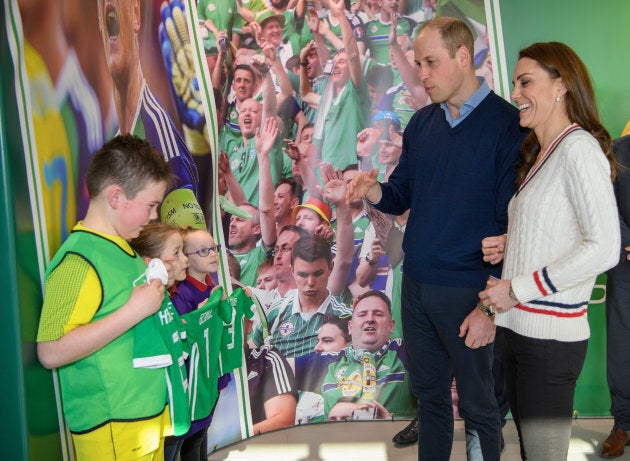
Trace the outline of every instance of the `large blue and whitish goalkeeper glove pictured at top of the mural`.
[[182, 123], [201, 131], [205, 124], [199, 85], [195, 75], [192, 49], [183, 3], [163, 2], [160, 8], [160, 46], [166, 73]]

